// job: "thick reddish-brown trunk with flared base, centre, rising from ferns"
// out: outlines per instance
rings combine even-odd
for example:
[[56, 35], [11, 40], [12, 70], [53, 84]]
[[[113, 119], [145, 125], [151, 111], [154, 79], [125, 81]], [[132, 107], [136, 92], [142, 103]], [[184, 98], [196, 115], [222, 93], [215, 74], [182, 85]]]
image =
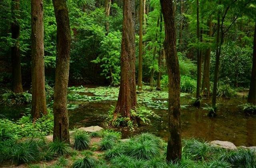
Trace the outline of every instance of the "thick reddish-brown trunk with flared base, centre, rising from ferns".
[[120, 114], [130, 118], [130, 110], [136, 107], [135, 81], [135, 32], [132, 18], [134, 1], [124, 0], [123, 31], [121, 43], [121, 81], [114, 119]]

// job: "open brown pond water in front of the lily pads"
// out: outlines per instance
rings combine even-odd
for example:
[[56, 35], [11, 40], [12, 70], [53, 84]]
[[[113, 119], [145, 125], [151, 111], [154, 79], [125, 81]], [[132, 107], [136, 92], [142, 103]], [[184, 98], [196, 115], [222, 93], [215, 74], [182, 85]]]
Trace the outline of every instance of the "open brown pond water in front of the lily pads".
[[[189, 105], [191, 98], [182, 98], [182, 105]], [[199, 138], [205, 141], [221, 140], [231, 141], [235, 145], [256, 146], [256, 116], [245, 115], [237, 105], [243, 104], [246, 99], [236, 97], [231, 99], [218, 98], [218, 116], [210, 118], [207, 111], [193, 106], [187, 106], [181, 111], [182, 137]], [[203, 100], [202, 104], [210, 104], [210, 100]], [[115, 101], [86, 102], [78, 109], [69, 111], [70, 127], [87, 127], [99, 125], [106, 127], [107, 111]], [[205, 105], [204, 105], [205, 106]], [[142, 126], [135, 132], [122, 131], [123, 138], [141, 132], [151, 132], [155, 135], [168, 139], [167, 110], [154, 109], [160, 116], [152, 119], [152, 124]]]

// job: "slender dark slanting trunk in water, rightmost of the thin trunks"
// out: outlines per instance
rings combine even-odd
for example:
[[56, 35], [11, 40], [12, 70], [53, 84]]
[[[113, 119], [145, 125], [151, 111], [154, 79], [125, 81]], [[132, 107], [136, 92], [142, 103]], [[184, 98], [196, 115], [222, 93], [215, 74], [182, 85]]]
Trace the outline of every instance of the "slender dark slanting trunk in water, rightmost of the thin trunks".
[[[217, 83], [218, 83], [218, 69], [220, 64], [220, 12], [218, 12], [217, 18], [217, 37], [216, 37], [216, 63], [214, 69], [214, 82], [213, 82], [213, 90], [212, 90], [212, 107], [216, 108], [216, 96], [217, 96]], [[210, 115], [216, 115], [216, 111], [210, 111]]]

